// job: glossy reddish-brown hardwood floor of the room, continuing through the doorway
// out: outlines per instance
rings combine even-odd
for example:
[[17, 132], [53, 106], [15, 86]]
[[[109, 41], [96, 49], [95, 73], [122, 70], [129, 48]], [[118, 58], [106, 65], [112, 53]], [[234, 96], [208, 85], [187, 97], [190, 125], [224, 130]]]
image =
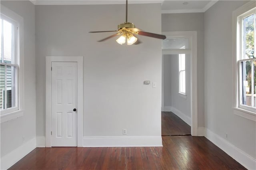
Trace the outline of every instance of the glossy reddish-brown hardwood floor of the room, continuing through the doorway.
[[[184, 127], [172, 131], [176, 117], [170, 120], [169, 116], [162, 114], [165, 134], [188, 133]], [[36, 148], [10, 170], [246, 169], [205, 137], [162, 136], [162, 143], [163, 147]]]

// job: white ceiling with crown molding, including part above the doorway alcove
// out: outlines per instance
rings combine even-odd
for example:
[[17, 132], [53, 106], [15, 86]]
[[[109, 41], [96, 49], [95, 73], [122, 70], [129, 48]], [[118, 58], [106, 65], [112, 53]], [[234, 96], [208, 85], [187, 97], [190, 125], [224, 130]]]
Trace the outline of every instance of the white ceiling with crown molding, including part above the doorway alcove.
[[[125, 0], [30, 0], [35, 5], [125, 4]], [[205, 12], [218, 0], [128, 0], [128, 4], [161, 3], [162, 13]]]

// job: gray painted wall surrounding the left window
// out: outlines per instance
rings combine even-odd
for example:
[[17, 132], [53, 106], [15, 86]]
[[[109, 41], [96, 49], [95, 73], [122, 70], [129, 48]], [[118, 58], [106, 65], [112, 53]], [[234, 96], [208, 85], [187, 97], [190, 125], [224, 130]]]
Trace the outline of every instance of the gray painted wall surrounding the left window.
[[[24, 116], [1, 123], [1, 157], [36, 137], [35, 7], [30, 1], [2, 1], [24, 19]], [[22, 140], [22, 137], [25, 140]]]

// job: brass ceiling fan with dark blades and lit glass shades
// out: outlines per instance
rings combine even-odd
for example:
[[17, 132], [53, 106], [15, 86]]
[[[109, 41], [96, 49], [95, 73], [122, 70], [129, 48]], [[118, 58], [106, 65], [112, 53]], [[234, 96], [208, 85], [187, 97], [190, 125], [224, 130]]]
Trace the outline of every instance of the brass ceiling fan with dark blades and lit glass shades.
[[[108, 40], [112, 37], [121, 35], [116, 42], [118, 42], [119, 44], [124, 44], [127, 40], [127, 45], [132, 45], [135, 42], [137, 42], [137, 38], [134, 35], [140, 35], [140, 36], [148, 36], [148, 37], [152, 37], [152, 38], [158, 38], [158, 39], [166, 39], [166, 36], [161, 35], [161, 34], [154, 34], [154, 33], [150, 33], [150, 32], [144, 32], [138, 28], [135, 27], [135, 25], [131, 22], [127, 22], [127, 10], [128, 10], [128, 0], [126, 0], [126, 20], [124, 23], [122, 24], [118, 24], [118, 31], [92, 31], [89, 33], [98, 33], [98, 32], [117, 32], [116, 34], [109, 36], [107, 38], [104, 38], [102, 40], [99, 40], [98, 42], [103, 42], [105, 40]], [[138, 42], [136, 44], [140, 43], [140, 41], [138, 40]]]

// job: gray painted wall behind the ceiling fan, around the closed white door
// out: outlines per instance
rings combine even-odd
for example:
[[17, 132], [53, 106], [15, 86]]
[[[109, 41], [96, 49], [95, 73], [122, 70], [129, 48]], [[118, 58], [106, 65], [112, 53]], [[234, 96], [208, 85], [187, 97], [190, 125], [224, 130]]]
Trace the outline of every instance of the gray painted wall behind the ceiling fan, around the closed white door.
[[[143, 10], [141, 10], [143, 9]], [[129, 5], [128, 21], [161, 33], [160, 4]], [[150, 18], [150, 20], [148, 20]], [[84, 56], [84, 136], [161, 136], [161, 40], [98, 40], [125, 21], [124, 5], [36, 6], [36, 135], [45, 136], [45, 56]], [[144, 85], [143, 81], [156, 82]]]

